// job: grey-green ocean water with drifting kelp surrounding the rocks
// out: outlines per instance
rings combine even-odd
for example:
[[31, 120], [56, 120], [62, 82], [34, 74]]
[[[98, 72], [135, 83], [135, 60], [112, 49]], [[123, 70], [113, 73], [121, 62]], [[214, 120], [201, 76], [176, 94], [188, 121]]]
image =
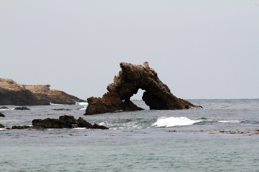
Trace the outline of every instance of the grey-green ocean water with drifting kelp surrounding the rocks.
[[[134, 100], [145, 110], [83, 116], [83, 103], [0, 110], [4, 126], [73, 115], [110, 128], [1, 129], [0, 170], [259, 171], [259, 99], [188, 101], [203, 109], [148, 110]], [[71, 110], [52, 110], [60, 108]]]

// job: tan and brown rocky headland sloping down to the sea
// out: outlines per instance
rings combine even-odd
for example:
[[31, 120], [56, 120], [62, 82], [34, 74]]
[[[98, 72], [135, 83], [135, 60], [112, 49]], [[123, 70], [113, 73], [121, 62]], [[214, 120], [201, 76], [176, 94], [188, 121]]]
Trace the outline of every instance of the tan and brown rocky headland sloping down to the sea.
[[0, 105], [50, 105], [84, 102], [64, 91], [50, 90], [50, 85], [17, 84], [12, 79], [0, 78]]

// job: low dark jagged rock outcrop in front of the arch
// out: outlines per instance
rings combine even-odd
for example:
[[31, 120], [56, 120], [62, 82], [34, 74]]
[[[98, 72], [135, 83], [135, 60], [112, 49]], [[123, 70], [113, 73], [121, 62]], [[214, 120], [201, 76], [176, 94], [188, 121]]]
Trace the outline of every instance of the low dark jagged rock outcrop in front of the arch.
[[75, 128], [77, 125], [80, 128], [87, 129], [108, 129], [105, 126], [92, 125], [83, 118], [75, 119], [72, 115], [63, 115], [59, 119], [34, 119], [32, 121], [33, 129], [62, 129], [62, 128]]

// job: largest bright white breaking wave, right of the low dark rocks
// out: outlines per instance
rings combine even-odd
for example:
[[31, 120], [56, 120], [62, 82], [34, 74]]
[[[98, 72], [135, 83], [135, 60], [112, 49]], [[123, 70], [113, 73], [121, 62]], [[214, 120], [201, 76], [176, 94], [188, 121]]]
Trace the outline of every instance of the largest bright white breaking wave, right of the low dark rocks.
[[188, 126], [196, 122], [201, 122], [202, 119], [191, 120], [186, 117], [160, 117], [157, 122], [152, 124], [156, 127], [172, 127], [172, 126]]

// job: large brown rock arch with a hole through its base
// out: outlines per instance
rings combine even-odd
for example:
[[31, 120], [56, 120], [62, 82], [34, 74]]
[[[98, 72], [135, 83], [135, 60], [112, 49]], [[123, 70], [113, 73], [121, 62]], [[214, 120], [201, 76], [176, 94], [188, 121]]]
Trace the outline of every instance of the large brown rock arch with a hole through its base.
[[[160, 81], [154, 69], [143, 65], [120, 63], [121, 71], [114, 77], [114, 83], [108, 84], [107, 94], [102, 98], [87, 98], [88, 106], [84, 115], [114, 111], [142, 110], [130, 101], [139, 89], [145, 90], [142, 99], [155, 110], [188, 109], [197, 107], [190, 102], [177, 98], [170, 89]], [[199, 106], [201, 107], [201, 106]]]

